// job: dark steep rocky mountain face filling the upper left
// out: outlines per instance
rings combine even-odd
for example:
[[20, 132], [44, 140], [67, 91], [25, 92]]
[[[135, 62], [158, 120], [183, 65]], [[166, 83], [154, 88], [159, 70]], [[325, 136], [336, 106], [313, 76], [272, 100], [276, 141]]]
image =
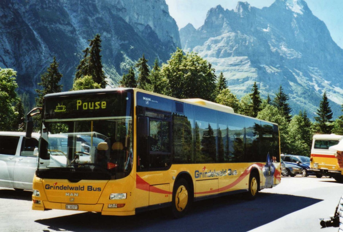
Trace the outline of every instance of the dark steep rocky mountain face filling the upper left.
[[19, 92], [31, 96], [53, 56], [69, 90], [82, 50], [97, 33], [111, 85], [143, 53], [152, 66], [181, 47], [165, 0], [1, 0], [0, 15], [0, 67], [16, 70]]

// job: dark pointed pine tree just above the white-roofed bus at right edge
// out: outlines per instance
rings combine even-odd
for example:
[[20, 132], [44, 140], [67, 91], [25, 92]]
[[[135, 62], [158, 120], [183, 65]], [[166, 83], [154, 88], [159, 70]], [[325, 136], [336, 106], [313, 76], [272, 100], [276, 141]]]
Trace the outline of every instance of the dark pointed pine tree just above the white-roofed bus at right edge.
[[332, 111], [329, 106], [328, 97], [326, 96], [326, 91], [324, 91], [323, 98], [320, 101], [319, 109], [317, 109], [318, 116], [315, 117], [317, 121], [317, 130], [321, 134], [330, 134], [333, 125], [331, 125]]

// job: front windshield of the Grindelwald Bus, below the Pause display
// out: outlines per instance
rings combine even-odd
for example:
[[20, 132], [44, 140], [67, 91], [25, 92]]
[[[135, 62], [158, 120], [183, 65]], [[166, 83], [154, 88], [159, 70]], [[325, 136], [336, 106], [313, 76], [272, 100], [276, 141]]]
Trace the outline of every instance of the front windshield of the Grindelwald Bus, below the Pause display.
[[[129, 106], [122, 102], [118, 107], [131, 107], [131, 101], [124, 100]], [[133, 161], [132, 114], [116, 112], [108, 117], [88, 111], [85, 115], [92, 118], [43, 119], [37, 176], [76, 181], [127, 176]]]

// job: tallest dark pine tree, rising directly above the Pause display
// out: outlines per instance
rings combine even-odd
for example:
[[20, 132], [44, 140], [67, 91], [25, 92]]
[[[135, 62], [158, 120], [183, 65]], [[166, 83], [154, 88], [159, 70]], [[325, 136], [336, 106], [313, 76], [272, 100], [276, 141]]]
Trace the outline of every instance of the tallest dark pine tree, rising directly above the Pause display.
[[102, 88], [106, 87], [106, 76], [103, 71], [103, 65], [101, 61], [101, 39], [100, 35], [96, 34], [94, 39], [88, 40], [90, 42], [89, 48], [86, 48], [82, 52], [84, 53], [83, 59], [76, 68], [76, 74], [74, 82], [86, 75], [92, 76], [95, 83], [101, 85]]

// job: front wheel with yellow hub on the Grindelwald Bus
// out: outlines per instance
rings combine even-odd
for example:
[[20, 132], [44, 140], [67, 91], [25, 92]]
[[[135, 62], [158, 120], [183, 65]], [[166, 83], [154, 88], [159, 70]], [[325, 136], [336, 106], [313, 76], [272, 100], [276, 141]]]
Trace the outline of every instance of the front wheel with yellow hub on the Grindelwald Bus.
[[171, 211], [175, 218], [182, 218], [191, 206], [191, 190], [185, 179], [178, 180], [173, 188]]

